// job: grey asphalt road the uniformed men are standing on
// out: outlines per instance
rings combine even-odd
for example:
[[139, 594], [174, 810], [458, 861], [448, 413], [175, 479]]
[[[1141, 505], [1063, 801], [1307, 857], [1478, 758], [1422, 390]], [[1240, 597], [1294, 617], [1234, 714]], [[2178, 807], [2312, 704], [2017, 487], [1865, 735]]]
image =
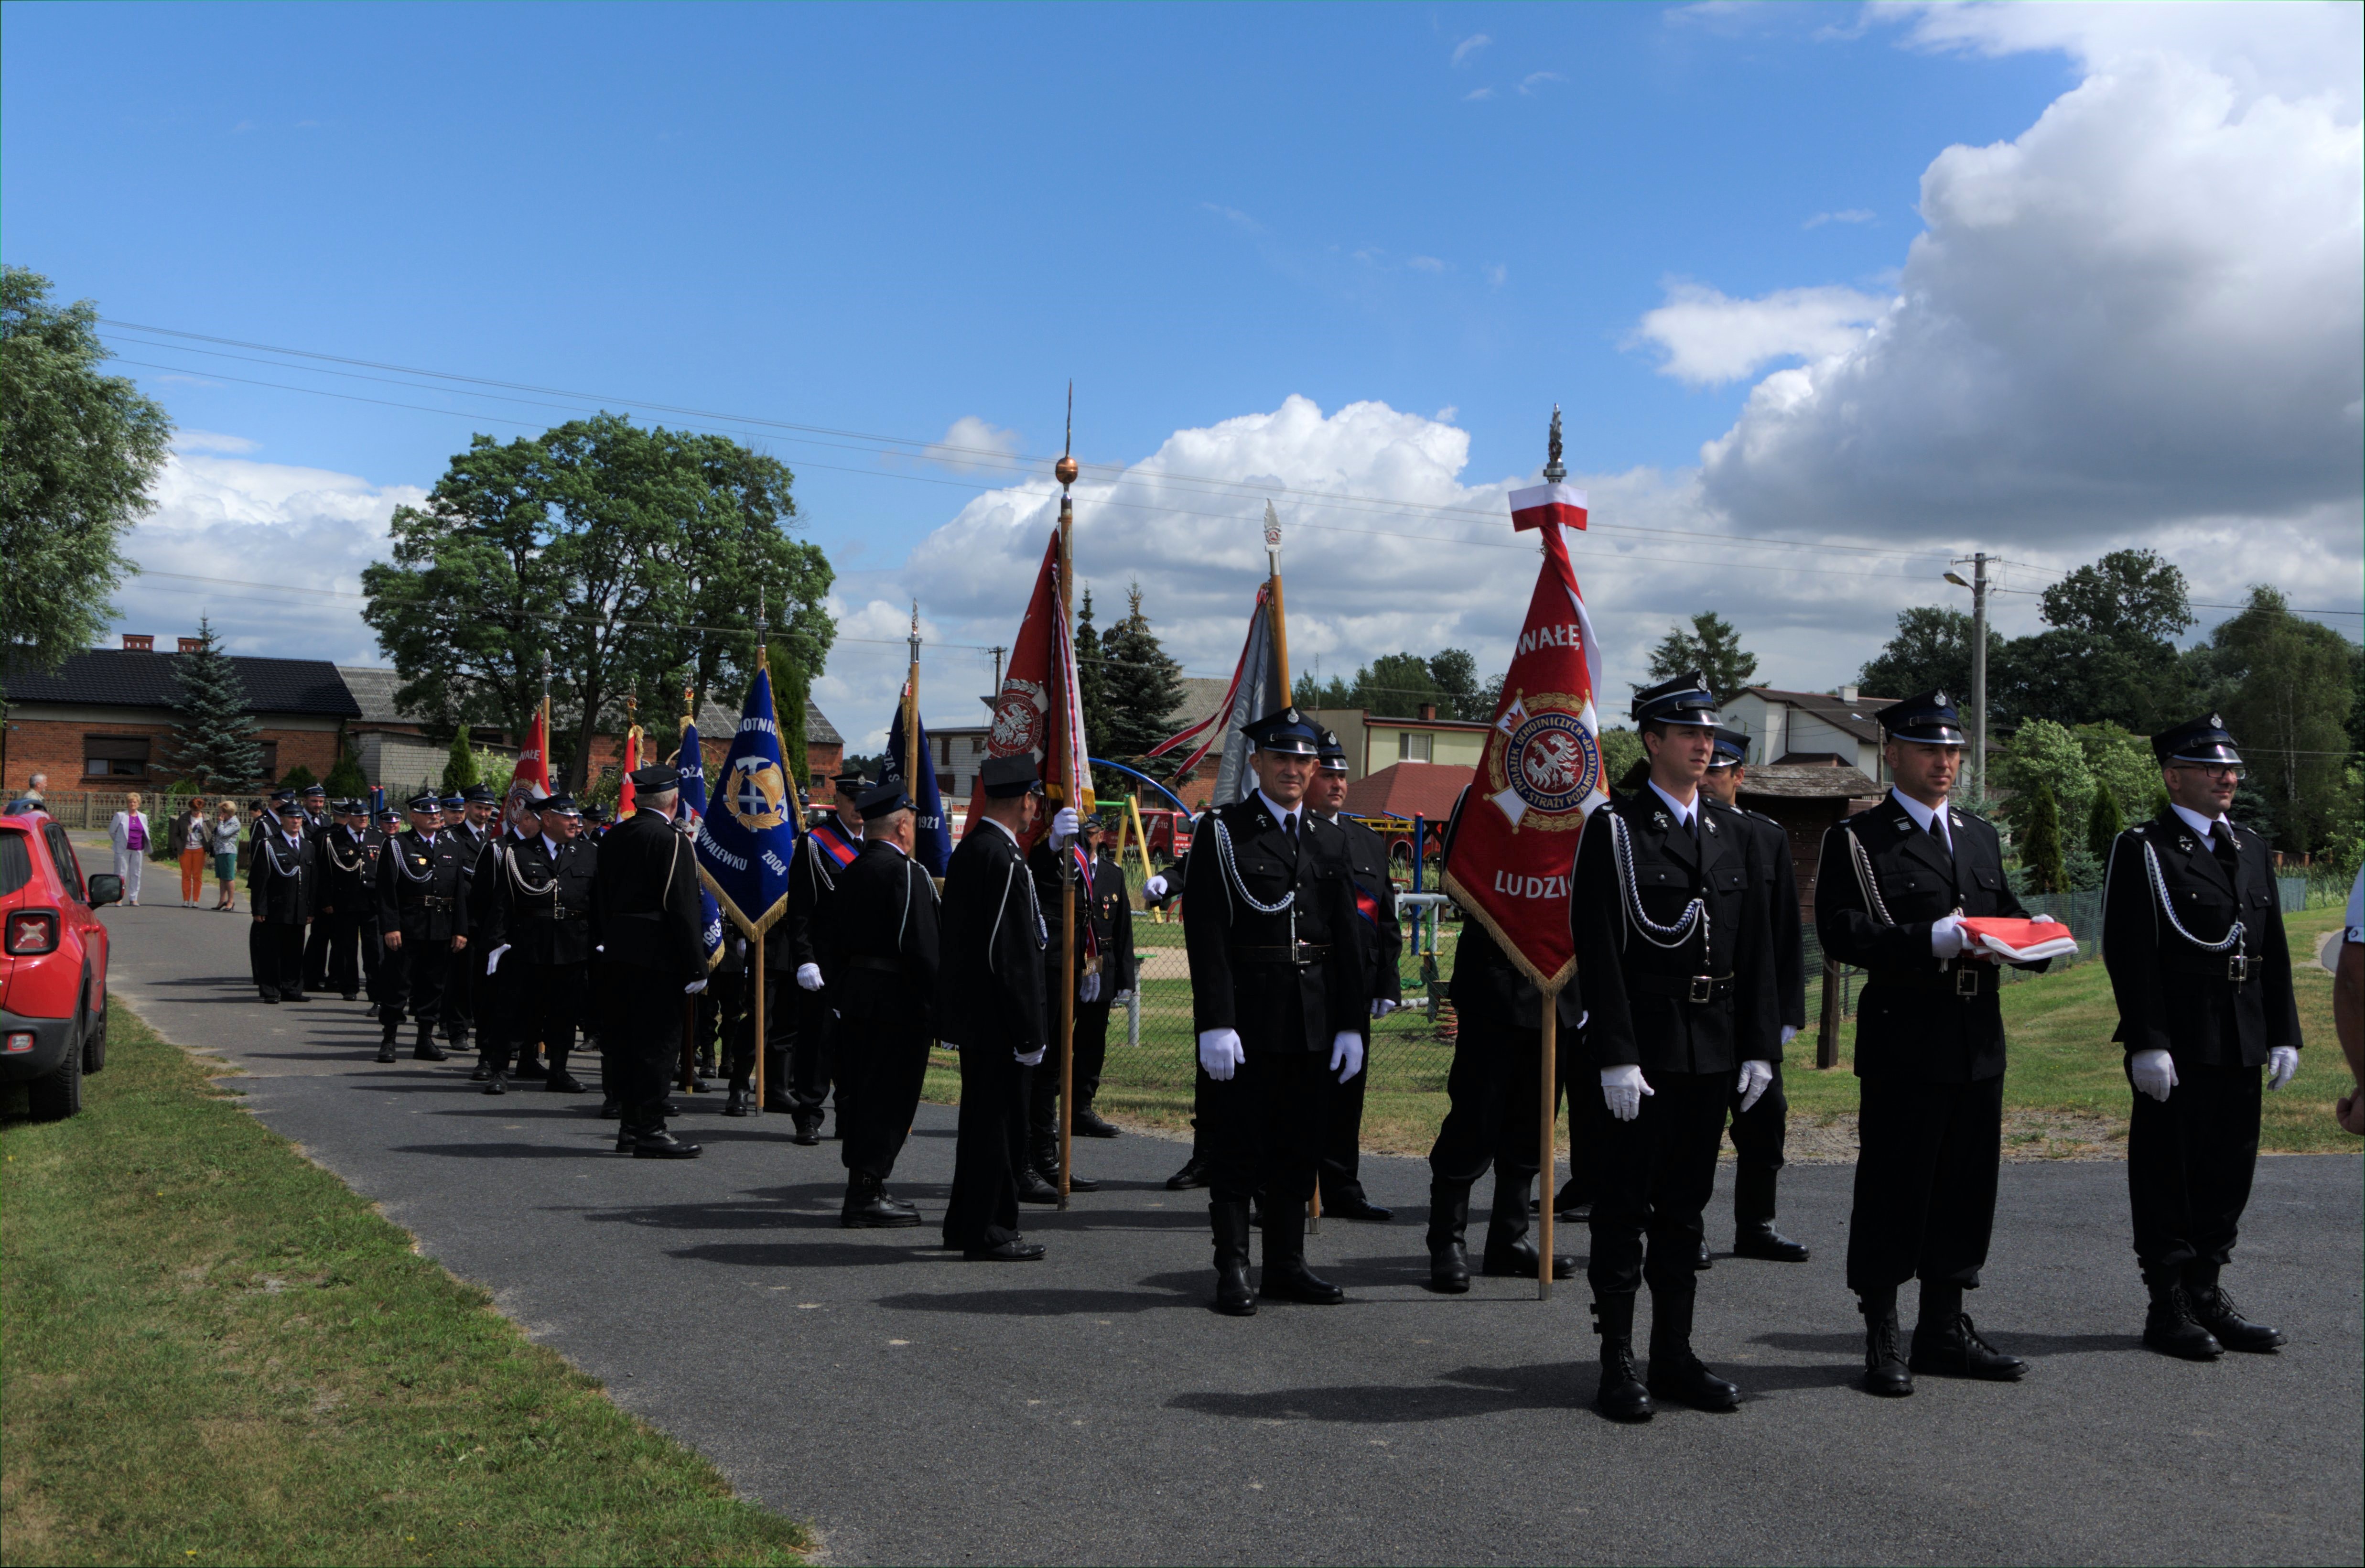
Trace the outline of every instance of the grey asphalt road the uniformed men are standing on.
[[[1393, 1225], [1313, 1237], [1346, 1305], [1218, 1317], [1204, 1194], [1164, 1187], [1173, 1142], [1078, 1142], [1104, 1185], [1031, 1216], [1050, 1258], [965, 1263], [934, 1249], [946, 1107], [920, 1109], [892, 1183], [922, 1227], [849, 1232], [837, 1145], [790, 1145], [785, 1116], [700, 1095], [676, 1128], [705, 1159], [620, 1159], [596, 1095], [492, 1100], [468, 1062], [374, 1064], [359, 1005], [258, 1005], [244, 913], [106, 920], [114, 986], [163, 1036], [246, 1069], [272, 1128], [617, 1402], [811, 1521], [828, 1561], [2360, 1561], [2353, 1156], [2261, 1161], [2228, 1287], [2292, 1346], [2214, 1365], [2136, 1339], [2121, 1166], [2006, 1166], [1972, 1315], [2032, 1372], [1894, 1402], [1852, 1386], [1854, 1171], [1793, 1168], [1783, 1230], [1814, 1261], [1726, 1256], [1700, 1279], [1696, 1346], [1748, 1402], [1622, 1428], [1589, 1410], [1582, 1279], [1549, 1303], [1530, 1282], [1421, 1289], [1419, 1161], [1365, 1161]], [[1717, 1242], [1726, 1204], [1719, 1185]]]

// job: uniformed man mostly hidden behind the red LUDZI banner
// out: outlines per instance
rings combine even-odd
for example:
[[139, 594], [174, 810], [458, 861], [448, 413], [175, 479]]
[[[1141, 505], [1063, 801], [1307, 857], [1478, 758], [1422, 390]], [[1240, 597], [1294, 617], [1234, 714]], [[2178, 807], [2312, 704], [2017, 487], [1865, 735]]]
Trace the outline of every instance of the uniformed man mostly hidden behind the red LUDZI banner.
[[[1464, 790], [1445, 825], [1452, 856], [1462, 825]], [[1528, 1187], [1537, 1175], [1537, 1119], [1542, 1116], [1544, 991], [1502, 951], [1480, 920], [1464, 920], [1454, 941], [1454, 972], [1445, 996], [1454, 1005], [1454, 1060], [1445, 1071], [1445, 1123], [1428, 1149], [1428, 1289], [1459, 1296], [1471, 1287], [1469, 1213], [1471, 1187], [1495, 1168], [1495, 1209], [1488, 1218], [1480, 1272], [1535, 1279], [1537, 1251], [1528, 1239]], [[1568, 1062], [1582, 1050], [1577, 1024], [1585, 1005], [1577, 984], [1556, 998], [1559, 1052]], [[1566, 1074], [1563, 1074], [1566, 1076]], [[1580, 1128], [1592, 1102], [1592, 1081], [1570, 1102], [1568, 1164], [1585, 1171], [1589, 1147]], [[1554, 1253], [1554, 1279], [1575, 1279], [1577, 1261]]]

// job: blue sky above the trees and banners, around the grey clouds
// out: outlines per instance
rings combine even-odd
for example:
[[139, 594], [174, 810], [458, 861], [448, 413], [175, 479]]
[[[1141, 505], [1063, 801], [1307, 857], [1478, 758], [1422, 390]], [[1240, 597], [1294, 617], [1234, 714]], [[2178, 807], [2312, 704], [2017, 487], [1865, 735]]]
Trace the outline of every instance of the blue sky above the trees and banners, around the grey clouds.
[[[1698, 570], [1637, 565], [1632, 579], [1603, 563], [1620, 605], [1634, 605], [1629, 641], [1684, 605], [1722, 608], [1762, 627], [1757, 641], [1786, 662], [1774, 674], [1802, 686], [1847, 679], [1897, 603], [1937, 596], [1904, 579], [1935, 577], [1987, 523], [1899, 516], [1918, 508], [1861, 475], [1833, 478], [1823, 456], [1847, 442], [1795, 421], [1778, 430], [1793, 452], [1778, 473], [1743, 461], [1755, 440], [1703, 466], [1703, 442], [1748, 428], [1767, 376], [1835, 345], [1845, 357], [1866, 333], [1925, 234], [1935, 161], [2039, 135], [2048, 106], [2079, 104], [2081, 83], [2128, 76], [2114, 61], [2131, 50], [2237, 83], [2249, 102], [2225, 111], [2223, 135], [2266, 135], [2254, 125], [2261, 92], [2270, 104], [2330, 92], [2325, 125], [2285, 135], [2330, 147], [2332, 175], [2358, 118], [2353, 90], [2325, 88], [2306, 64], [2320, 40], [2256, 45], [2230, 17], [2199, 31], [2164, 24], [2159, 38], [2136, 28], [2133, 43], [2107, 19], [2029, 33], [1913, 9], [1646, 5], [7, 5], [0, 26], [0, 251], [114, 319], [565, 388], [617, 409], [662, 402], [908, 440], [970, 421], [958, 445], [1029, 456], [1057, 452], [1074, 376], [1078, 454], [1114, 466], [1152, 461], [1178, 433], [1272, 416], [1289, 397], [1322, 416], [1376, 402], [1462, 433], [1443, 478], [1424, 475], [1459, 490], [1419, 501], [1431, 508], [1499, 504], [1476, 492], [1535, 471], [1559, 402], [1570, 468], [1632, 485], [1596, 487], [1603, 520], [1618, 494], [1634, 527], [1897, 546], [1859, 558], [1899, 587], [1854, 603], [1814, 591], [1812, 610], [1793, 603], [1788, 572], [1734, 570], [1729, 551], [1670, 546]], [[2339, 66], [2353, 26], [2334, 24], [2330, 38]], [[2143, 106], [2084, 111], [2112, 125]], [[2145, 199], [2133, 175], [2131, 189]], [[2315, 208], [2327, 232], [2344, 232], [2322, 201], [2304, 201], [2301, 218]], [[1949, 277], [2020, 265], [1970, 258], [1946, 272], [1942, 260], [1927, 263], [1932, 279], [1965, 298], [1991, 293], [1994, 279]], [[2039, 255], [2029, 270], [2043, 265]], [[1684, 300], [1700, 310], [1653, 317]], [[2157, 343], [2157, 322], [2140, 336]], [[598, 407], [364, 383], [277, 355], [253, 364], [135, 338], [116, 343], [144, 362], [128, 374], [206, 433], [170, 497], [203, 516], [154, 525], [156, 561], [184, 575], [263, 568], [350, 589], [371, 518], [383, 525], [393, 499], [433, 485], [471, 430], [516, 435]], [[2351, 345], [2315, 367], [2318, 402], [2339, 400], [2356, 357]], [[2121, 414], [2121, 430], [2152, 423], [2140, 407]], [[1007, 471], [700, 423], [740, 428], [799, 471], [811, 534], [844, 572], [849, 627], [918, 594], [939, 641], [1007, 641], [996, 624], [1015, 624], [1019, 605], [996, 594], [1007, 598], [1005, 556], [1026, 551], [974, 534], [998, 504], [979, 490], [1010, 485]], [[1405, 440], [1407, 426], [1388, 428], [1381, 445]], [[2341, 430], [2330, 419], [2294, 440], [2337, 471]], [[2353, 445], [2353, 421], [2346, 430]], [[1923, 452], [1935, 438], [1897, 440]], [[1998, 440], [2017, 438], [1975, 445], [1994, 452]], [[1223, 454], [1197, 456], [1204, 471]], [[1298, 471], [1301, 459], [1313, 466]], [[2259, 452], [2256, 464], [2282, 471], [2289, 456]], [[1388, 461], [1372, 452], [1317, 461], [1291, 449], [1268, 471], [1393, 494]], [[1963, 494], [1958, 478], [1935, 461], [1927, 485]], [[2112, 475], [2043, 482], [2010, 506], [2039, 516], [2053, 497], [2076, 513], [2076, 497]], [[2266, 516], [2301, 530], [2311, 551], [2353, 561], [2356, 487], [2339, 490], [2299, 485]], [[2086, 544], [2228, 513], [2223, 501], [2202, 516], [2176, 516], [2173, 501], [2112, 506], [2088, 537], [2048, 523], [2020, 539], [2027, 582], [2091, 558]], [[1438, 513], [1405, 518], [1405, 530], [1436, 534]], [[170, 539], [168, 525], [180, 530]], [[258, 549], [222, 532], [241, 525], [265, 530]], [[1209, 527], [1230, 525], [1112, 513], [1086, 568], [1138, 575], [1152, 613], [1173, 605], [1190, 667], [1213, 674], [1237, 648], [1239, 570], [1194, 575], [1204, 551], [1154, 537]], [[1010, 530], [1026, 534], [1026, 518]], [[192, 544], [215, 570], [189, 565]], [[920, 565], [963, 551], [998, 563], [963, 579], [991, 591], [953, 591]], [[1433, 589], [1424, 551], [1381, 563], [1379, 577], [1367, 551], [1305, 556], [1310, 582], [1294, 579], [1291, 603], [1313, 622], [1308, 646], [1353, 662], [1462, 641], [1488, 662], [1488, 641], [1509, 639], [1525, 601], [1528, 568], [1478, 551], [1509, 568], [1495, 572], [1502, 582], [1421, 610]], [[2320, 561], [2296, 565], [2320, 582]], [[2202, 577], [2204, 589], [2216, 577], [2240, 589], [2240, 572]], [[1495, 613], [1490, 596], [1516, 603]], [[255, 650], [315, 641], [371, 660], [350, 605], [326, 598], [317, 613], [263, 615], [263, 598], [151, 579], [125, 605], [166, 634], [175, 617], [194, 620], [196, 598]], [[2353, 603], [2351, 572], [2334, 608]], [[877, 702], [877, 679], [861, 669], [849, 646], [832, 669], [840, 702]], [[863, 728], [861, 717], [847, 728]]]

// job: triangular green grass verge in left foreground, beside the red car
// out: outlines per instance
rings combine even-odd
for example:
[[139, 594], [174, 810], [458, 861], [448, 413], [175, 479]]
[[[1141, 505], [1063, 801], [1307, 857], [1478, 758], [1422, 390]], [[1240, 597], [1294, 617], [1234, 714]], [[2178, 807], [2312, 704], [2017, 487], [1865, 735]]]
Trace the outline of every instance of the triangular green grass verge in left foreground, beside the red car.
[[218, 1067], [111, 1015], [83, 1114], [0, 1130], [5, 1561], [804, 1561]]

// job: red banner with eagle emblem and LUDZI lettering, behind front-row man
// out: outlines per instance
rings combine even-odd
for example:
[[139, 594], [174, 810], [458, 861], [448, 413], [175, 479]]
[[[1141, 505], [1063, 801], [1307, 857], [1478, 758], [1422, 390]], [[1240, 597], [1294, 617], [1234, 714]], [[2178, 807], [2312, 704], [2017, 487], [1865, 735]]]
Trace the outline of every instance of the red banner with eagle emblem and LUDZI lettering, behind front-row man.
[[1511, 494], [1511, 523], [1544, 537], [1544, 568], [1502, 679], [1478, 778], [1454, 806], [1445, 892], [1492, 932], [1528, 979], [1559, 991], [1575, 972], [1568, 873], [1587, 814], [1608, 799], [1594, 686], [1601, 655], [1563, 527], [1585, 527], [1585, 492]]

